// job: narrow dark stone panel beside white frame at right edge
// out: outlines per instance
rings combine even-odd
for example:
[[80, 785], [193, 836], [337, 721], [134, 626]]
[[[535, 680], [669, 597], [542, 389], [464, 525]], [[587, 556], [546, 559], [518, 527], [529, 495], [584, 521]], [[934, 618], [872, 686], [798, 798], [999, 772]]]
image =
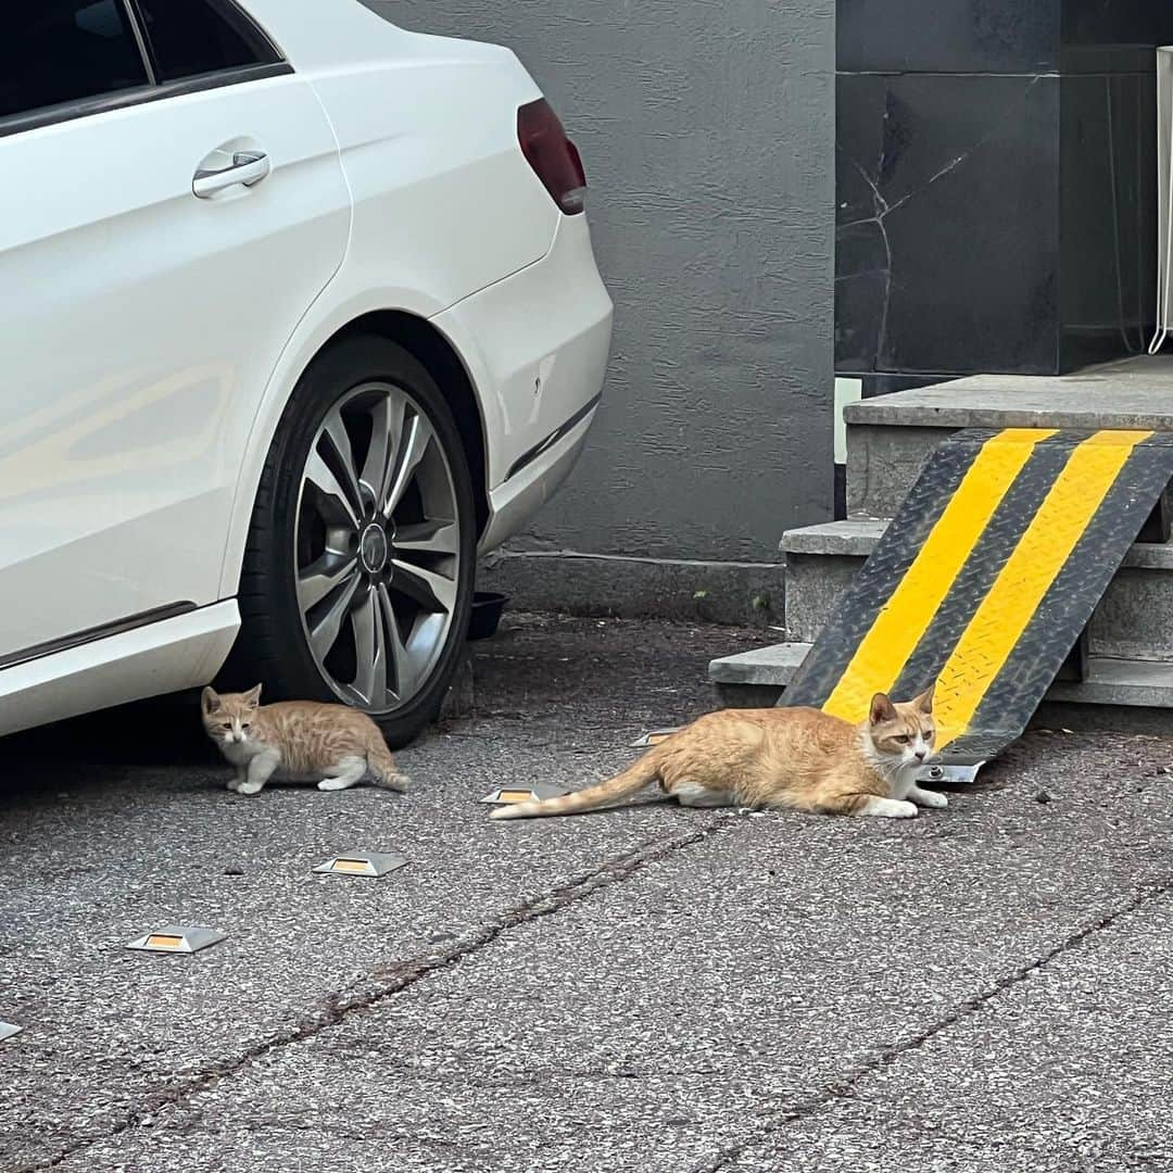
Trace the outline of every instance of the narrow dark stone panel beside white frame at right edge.
[[1137, 354], [1157, 317], [1157, 82], [1060, 82], [1060, 366]]

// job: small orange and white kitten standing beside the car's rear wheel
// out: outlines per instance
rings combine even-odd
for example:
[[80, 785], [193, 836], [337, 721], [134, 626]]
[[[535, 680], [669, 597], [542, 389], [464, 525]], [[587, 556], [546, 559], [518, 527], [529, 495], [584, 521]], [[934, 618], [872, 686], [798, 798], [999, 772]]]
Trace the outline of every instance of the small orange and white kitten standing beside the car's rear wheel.
[[237, 794], [257, 794], [270, 778], [318, 782], [319, 791], [345, 791], [371, 778], [377, 786], [406, 791], [387, 743], [366, 713], [314, 700], [260, 704], [260, 685], [219, 696], [204, 689], [204, 730], [236, 766], [228, 784]]

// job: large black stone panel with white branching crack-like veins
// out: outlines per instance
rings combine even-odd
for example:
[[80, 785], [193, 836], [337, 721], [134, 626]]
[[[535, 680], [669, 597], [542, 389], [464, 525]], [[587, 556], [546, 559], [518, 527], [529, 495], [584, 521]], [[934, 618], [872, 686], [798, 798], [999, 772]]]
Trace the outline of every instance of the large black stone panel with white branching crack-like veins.
[[1053, 372], [1059, 79], [841, 75], [836, 99], [836, 369]]

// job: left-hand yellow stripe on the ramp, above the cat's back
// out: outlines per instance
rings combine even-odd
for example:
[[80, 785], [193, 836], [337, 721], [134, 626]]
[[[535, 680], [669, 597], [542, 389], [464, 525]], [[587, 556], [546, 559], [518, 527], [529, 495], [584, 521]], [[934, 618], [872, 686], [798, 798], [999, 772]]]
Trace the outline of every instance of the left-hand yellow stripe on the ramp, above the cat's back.
[[1053, 428], [1006, 428], [986, 440], [856, 647], [823, 712], [854, 725], [867, 717], [876, 692], [891, 689], [1035, 445], [1052, 435]]

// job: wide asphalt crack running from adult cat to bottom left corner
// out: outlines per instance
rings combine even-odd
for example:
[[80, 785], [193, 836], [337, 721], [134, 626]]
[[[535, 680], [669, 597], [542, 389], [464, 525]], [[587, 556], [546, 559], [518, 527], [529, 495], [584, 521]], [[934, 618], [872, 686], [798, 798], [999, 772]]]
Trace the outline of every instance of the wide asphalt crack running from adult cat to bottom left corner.
[[13, 1169], [13, 1173], [35, 1173], [39, 1169], [55, 1168], [70, 1157], [76, 1157], [87, 1148], [104, 1140], [110, 1140], [129, 1130], [137, 1127], [145, 1118], [157, 1112], [179, 1107], [192, 1096], [209, 1091], [221, 1080], [236, 1076], [257, 1059], [263, 1058], [279, 1047], [290, 1046], [313, 1038], [325, 1030], [338, 1026], [351, 1015], [361, 1013], [378, 1006], [387, 998], [401, 994], [418, 982], [442, 970], [459, 964], [467, 957], [493, 944], [500, 936], [544, 916], [560, 913], [579, 903], [611, 884], [623, 883], [644, 868], [658, 863], [674, 852], [683, 850], [694, 843], [704, 842], [716, 833], [733, 823], [728, 820], [712, 820], [698, 829], [669, 839], [655, 839], [632, 848], [623, 855], [603, 863], [578, 877], [568, 881], [547, 893], [523, 901], [521, 904], [489, 917], [473, 933], [467, 933], [449, 945], [449, 948], [396, 962], [374, 970], [369, 979], [360, 988], [351, 988], [326, 995], [319, 999], [318, 1009], [304, 1015], [298, 1022], [284, 1030], [246, 1047], [231, 1059], [212, 1064], [205, 1070], [175, 1080], [144, 1097], [143, 1106], [127, 1112], [122, 1119], [104, 1128], [100, 1134], [79, 1138], [73, 1144], [59, 1150], [53, 1157]]

